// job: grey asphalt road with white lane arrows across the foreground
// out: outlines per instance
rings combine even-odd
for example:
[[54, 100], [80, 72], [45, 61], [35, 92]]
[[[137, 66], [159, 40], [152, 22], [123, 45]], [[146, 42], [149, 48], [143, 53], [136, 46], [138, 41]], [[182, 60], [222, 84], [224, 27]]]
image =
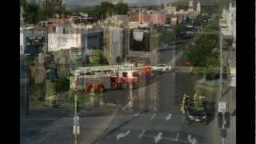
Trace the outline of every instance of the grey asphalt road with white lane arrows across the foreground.
[[[168, 63], [175, 66], [183, 66], [186, 62], [183, 49], [186, 43], [176, 46], [174, 50], [159, 52], [159, 63]], [[197, 143], [208, 144], [209, 130], [211, 126], [204, 123], [188, 124], [186, 118], [180, 112], [179, 98], [182, 94], [193, 94], [194, 83], [198, 80], [197, 75], [166, 73], [158, 78], [155, 86], [156, 93], [150, 91], [150, 86], [145, 87], [145, 98], [137, 95], [134, 100], [134, 110], [121, 110], [128, 103], [129, 91], [116, 90], [103, 94], [104, 102], [116, 104], [114, 110], [80, 111], [81, 134], [78, 135], [78, 143], [192, 143], [193, 138]], [[136, 96], [138, 91], [133, 90]], [[155, 97], [152, 98], [151, 97]], [[142, 101], [142, 102], [141, 102]], [[139, 103], [154, 102], [153, 109], [148, 112], [141, 111]], [[155, 110], [154, 110], [155, 108]], [[118, 110], [118, 112], [117, 112]], [[62, 110], [60, 110], [62, 111]], [[33, 115], [33, 114], [30, 114]], [[57, 118], [39, 117], [37, 119], [26, 118], [23, 124], [24, 141], [22, 143], [58, 144], [72, 143], [73, 113]], [[41, 118], [41, 119], [40, 119]], [[41, 120], [41, 122], [40, 122]], [[40, 124], [41, 123], [41, 124]], [[45, 124], [45, 126], [43, 126]], [[33, 129], [30, 128], [33, 126]], [[31, 132], [31, 134], [29, 133]], [[217, 132], [216, 132], [217, 134]], [[192, 138], [190, 138], [192, 136]]]

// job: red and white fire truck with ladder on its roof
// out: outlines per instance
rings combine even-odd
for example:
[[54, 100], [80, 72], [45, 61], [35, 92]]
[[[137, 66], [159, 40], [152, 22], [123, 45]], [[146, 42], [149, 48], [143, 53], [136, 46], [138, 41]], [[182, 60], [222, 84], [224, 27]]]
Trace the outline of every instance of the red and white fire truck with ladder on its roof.
[[152, 75], [151, 66], [123, 64], [114, 66], [79, 67], [71, 71], [70, 89], [82, 92], [138, 88], [143, 75]]

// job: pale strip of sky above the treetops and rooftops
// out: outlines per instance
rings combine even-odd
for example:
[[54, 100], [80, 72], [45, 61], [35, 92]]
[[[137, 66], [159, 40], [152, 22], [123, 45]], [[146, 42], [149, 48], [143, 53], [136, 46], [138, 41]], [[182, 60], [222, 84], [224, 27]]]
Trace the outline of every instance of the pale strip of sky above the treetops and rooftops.
[[[107, 0], [65, 0], [67, 6], [92, 6], [98, 5], [101, 2], [106, 2]], [[154, 5], [160, 4], [165, 0], [126, 0], [128, 5], [141, 4], [141, 5]], [[167, 2], [174, 2], [176, 0], [166, 0]]]

